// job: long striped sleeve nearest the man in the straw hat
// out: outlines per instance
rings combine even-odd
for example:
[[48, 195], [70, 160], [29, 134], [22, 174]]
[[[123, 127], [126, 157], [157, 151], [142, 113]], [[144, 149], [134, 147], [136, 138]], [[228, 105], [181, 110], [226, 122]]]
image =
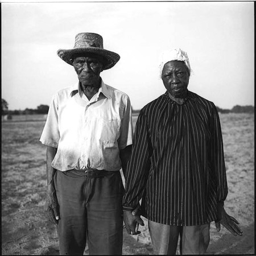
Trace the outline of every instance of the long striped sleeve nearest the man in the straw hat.
[[152, 152], [148, 136], [146, 116], [141, 112], [135, 128], [133, 152], [127, 164], [123, 210], [133, 210], [146, 187]]

